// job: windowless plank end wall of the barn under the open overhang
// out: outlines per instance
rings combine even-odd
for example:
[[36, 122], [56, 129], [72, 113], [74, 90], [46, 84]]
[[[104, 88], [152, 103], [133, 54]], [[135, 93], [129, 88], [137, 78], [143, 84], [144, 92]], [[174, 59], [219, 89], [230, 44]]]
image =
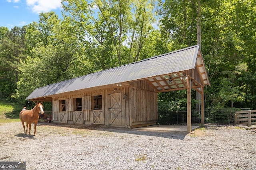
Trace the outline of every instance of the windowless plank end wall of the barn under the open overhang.
[[130, 127], [155, 125], [157, 120], [157, 93], [146, 80], [130, 83]]

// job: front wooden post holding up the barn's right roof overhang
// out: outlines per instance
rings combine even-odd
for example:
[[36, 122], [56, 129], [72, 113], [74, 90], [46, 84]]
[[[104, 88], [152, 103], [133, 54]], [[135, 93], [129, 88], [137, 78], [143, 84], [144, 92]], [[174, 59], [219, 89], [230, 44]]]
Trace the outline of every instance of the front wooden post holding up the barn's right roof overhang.
[[187, 82], [187, 128], [191, 132], [191, 79], [188, 77]]

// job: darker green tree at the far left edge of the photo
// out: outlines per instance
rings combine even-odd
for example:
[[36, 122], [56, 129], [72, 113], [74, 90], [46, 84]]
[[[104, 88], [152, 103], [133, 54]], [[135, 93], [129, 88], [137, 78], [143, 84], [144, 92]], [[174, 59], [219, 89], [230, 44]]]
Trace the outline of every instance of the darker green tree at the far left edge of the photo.
[[26, 58], [26, 26], [0, 30], [0, 91], [2, 97], [12, 99], [19, 78], [18, 68]]

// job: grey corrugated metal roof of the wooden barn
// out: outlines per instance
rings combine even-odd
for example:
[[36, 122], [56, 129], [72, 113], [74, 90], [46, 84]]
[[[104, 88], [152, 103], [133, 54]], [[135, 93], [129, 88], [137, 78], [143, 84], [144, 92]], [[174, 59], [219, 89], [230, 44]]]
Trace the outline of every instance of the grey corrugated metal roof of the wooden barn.
[[[152, 77], [194, 69], [196, 64], [200, 64], [200, 66], [202, 66], [202, 68], [199, 70], [200, 73], [202, 73], [201, 75], [205, 76], [203, 78], [204, 85], [210, 85], [203, 59], [197, 61], [199, 54], [202, 55], [199, 45], [195, 45], [163, 55], [158, 55], [156, 57], [144, 59], [135, 63], [126, 64], [77, 78], [72, 78], [70, 80], [57, 82], [48, 86], [43, 86], [34, 90], [34, 92], [32, 92], [26, 98], [26, 100], [52, 96], [86, 88], [105, 86], [108, 84], [130, 82], [145, 78], [148, 78], [148, 80], [151, 81]], [[173, 76], [175, 77], [175, 75]], [[180, 76], [182, 76], [182, 74], [180, 74], [178, 77]], [[154, 86], [157, 87], [157, 85]], [[157, 89], [160, 90], [159, 88]]]

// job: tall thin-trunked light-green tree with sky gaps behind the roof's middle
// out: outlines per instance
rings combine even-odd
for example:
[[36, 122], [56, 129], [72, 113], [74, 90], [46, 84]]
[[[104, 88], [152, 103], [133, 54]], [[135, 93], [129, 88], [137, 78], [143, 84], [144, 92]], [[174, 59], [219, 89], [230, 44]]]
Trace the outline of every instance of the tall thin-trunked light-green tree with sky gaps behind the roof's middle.
[[[68, 3], [67, 3], [68, 2]], [[154, 29], [154, 1], [62, 0], [66, 20], [90, 46], [90, 59], [100, 70], [141, 59], [141, 50]]]

